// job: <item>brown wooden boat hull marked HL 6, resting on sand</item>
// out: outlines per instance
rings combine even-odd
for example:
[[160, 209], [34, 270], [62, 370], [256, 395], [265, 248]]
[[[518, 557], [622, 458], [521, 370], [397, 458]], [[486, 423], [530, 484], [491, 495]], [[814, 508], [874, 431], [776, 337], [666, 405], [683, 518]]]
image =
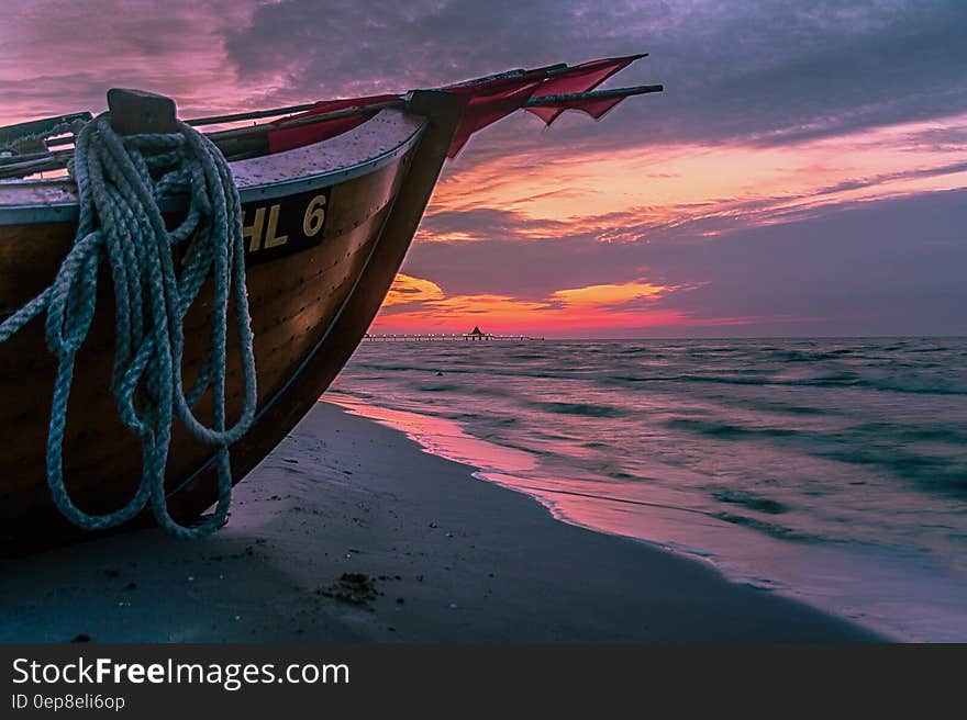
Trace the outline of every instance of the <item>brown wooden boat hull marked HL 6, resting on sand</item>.
[[[466, 102], [452, 92], [414, 91], [326, 142], [233, 162], [258, 376], [255, 423], [232, 447], [234, 481], [309, 412], [364, 337], [416, 230]], [[0, 183], [0, 320], [49, 284], [74, 241], [77, 213], [76, 188], [67, 179]], [[120, 507], [141, 480], [141, 441], [122, 426], [110, 390], [110, 288], [99, 284], [64, 441], [67, 488], [88, 513]], [[200, 302], [185, 320], [189, 375], [202, 360], [208, 318]], [[0, 344], [0, 554], [84, 535], [59, 515], [46, 482], [55, 369], [42, 320]], [[232, 414], [242, 395], [237, 361], [230, 360], [227, 371]], [[190, 522], [214, 503], [213, 464], [212, 447], [176, 425], [166, 475], [176, 520]], [[151, 521], [143, 513], [129, 525]]]

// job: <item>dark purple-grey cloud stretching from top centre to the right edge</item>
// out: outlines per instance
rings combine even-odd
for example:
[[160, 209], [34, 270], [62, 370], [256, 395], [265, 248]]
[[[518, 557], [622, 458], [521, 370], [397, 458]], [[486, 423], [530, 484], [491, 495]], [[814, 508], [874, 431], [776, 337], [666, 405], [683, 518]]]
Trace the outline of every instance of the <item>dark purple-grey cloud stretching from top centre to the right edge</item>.
[[[649, 50], [620, 80], [662, 81], [666, 93], [615, 111], [592, 140], [607, 147], [770, 145], [964, 112], [965, 26], [959, 0], [281, 0], [225, 36], [242, 77], [311, 97]], [[580, 137], [581, 120], [556, 130]], [[524, 139], [494, 132], [503, 148]]]

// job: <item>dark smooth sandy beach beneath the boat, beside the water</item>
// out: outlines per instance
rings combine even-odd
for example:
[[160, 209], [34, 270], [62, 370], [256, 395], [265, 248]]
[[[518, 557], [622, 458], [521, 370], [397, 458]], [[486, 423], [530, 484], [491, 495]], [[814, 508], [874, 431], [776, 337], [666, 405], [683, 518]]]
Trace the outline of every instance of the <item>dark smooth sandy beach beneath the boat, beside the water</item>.
[[559, 522], [319, 403], [229, 525], [0, 562], [0, 641], [827, 642], [879, 635], [629, 539]]

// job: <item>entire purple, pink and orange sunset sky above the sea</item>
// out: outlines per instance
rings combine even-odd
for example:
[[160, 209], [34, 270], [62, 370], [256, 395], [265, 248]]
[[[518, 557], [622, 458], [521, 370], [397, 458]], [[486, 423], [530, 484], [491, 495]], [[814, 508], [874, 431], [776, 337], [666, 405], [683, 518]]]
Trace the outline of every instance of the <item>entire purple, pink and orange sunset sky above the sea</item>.
[[7, 0], [0, 123], [434, 87], [648, 52], [437, 187], [374, 331], [967, 334], [967, 2]]

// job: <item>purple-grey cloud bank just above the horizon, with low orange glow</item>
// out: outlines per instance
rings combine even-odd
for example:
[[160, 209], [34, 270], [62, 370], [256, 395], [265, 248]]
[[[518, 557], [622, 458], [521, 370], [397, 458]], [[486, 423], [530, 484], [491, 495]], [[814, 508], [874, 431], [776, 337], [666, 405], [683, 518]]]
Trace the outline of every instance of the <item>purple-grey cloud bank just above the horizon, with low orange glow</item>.
[[[656, 327], [668, 335], [964, 335], [965, 206], [967, 190], [944, 191], [703, 240], [418, 244], [404, 271], [433, 278], [448, 313], [475, 308], [505, 323], [518, 313], [516, 327], [562, 335], [582, 327], [640, 336]], [[563, 312], [568, 299], [591, 302]], [[447, 314], [434, 316], [433, 307], [409, 314], [407, 327], [445, 323]]]

